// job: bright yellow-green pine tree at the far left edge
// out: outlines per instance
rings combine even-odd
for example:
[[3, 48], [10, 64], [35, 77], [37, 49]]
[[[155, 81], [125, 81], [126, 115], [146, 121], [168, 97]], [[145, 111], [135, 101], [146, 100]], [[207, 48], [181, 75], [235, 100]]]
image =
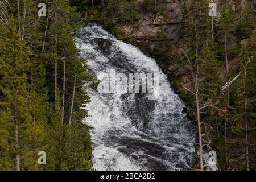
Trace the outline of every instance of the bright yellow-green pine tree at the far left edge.
[[13, 18], [5, 32], [0, 43], [0, 166], [18, 171], [38, 169], [37, 152], [44, 149], [44, 119], [33, 115], [37, 96], [27, 83], [29, 49], [23, 51]]

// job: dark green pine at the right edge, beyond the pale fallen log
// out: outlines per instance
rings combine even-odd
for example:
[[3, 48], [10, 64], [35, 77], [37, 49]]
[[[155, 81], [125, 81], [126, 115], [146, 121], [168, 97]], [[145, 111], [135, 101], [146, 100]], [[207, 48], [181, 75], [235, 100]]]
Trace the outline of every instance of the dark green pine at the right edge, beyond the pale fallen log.
[[[249, 61], [250, 60], [250, 61]], [[242, 166], [238, 169], [251, 169], [251, 161], [254, 158], [255, 147], [255, 60], [251, 60], [245, 45], [242, 46], [240, 60], [240, 77], [236, 90], [236, 114], [234, 115], [234, 134], [241, 142], [240, 160]], [[233, 164], [236, 166], [236, 164]], [[252, 166], [253, 168], [255, 166]]]

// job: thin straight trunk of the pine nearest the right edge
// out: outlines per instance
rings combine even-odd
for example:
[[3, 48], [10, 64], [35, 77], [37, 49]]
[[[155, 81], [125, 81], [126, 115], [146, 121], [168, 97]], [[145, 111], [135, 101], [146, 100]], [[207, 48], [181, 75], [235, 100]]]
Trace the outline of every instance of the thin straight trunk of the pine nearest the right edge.
[[248, 142], [248, 123], [247, 123], [247, 86], [246, 86], [246, 68], [244, 68], [245, 76], [243, 78], [243, 92], [245, 100], [245, 139], [246, 139], [246, 166], [247, 171], [250, 171], [249, 165], [249, 142]]

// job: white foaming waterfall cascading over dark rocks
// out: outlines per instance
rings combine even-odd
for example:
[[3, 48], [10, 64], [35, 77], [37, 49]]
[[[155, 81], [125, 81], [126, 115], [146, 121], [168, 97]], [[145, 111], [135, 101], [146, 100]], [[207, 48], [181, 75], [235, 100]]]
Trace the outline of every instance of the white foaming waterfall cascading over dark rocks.
[[93, 164], [97, 170], [182, 170], [191, 164], [194, 129], [182, 113], [183, 102], [154, 59], [117, 40], [97, 23], [77, 31], [77, 48], [90, 73], [157, 73], [159, 97], [100, 94], [91, 97], [85, 122], [93, 126]]

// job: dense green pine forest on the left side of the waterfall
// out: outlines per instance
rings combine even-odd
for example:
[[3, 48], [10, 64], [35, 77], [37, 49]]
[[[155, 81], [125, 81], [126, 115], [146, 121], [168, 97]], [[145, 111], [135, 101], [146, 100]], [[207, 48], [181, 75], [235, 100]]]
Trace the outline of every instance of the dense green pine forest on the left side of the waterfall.
[[[39, 18], [42, 2], [47, 16]], [[90, 127], [81, 121], [90, 101], [82, 85], [93, 77], [73, 38], [80, 14], [66, 0], [0, 5], [0, 169], [91, 169]]]

